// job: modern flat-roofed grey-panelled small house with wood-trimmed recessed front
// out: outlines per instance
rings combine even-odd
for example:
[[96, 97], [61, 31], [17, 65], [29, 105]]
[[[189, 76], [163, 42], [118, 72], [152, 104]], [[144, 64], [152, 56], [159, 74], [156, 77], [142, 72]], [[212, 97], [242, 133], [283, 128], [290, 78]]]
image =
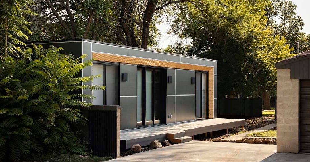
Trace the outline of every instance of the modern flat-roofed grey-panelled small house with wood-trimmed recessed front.
[[217, 116], [216, 60], [87, 39], [33, 43], [95, 59], [81, 75], [101, 75], [86, 84], [106, 89], [83, 90], [95, 98], [82, 100], [94, 106], [120, 105], [122, 130]]

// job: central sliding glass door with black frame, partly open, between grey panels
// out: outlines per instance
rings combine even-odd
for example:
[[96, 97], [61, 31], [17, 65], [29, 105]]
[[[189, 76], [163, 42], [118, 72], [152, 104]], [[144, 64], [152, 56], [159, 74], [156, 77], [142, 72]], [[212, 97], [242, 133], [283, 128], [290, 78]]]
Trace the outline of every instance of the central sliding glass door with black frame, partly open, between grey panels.
[[137, 71], [137, 125], [160, 124], [165, 119], [164, 71], [138, 68]]

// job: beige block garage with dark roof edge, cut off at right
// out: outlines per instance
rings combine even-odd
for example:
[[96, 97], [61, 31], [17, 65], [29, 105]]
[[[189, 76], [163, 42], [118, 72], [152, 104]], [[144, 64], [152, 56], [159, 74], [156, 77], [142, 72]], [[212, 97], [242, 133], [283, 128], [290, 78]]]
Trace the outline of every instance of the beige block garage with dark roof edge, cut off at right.
[[276, 67], [277, 152], [310, 152], [310, 50]]

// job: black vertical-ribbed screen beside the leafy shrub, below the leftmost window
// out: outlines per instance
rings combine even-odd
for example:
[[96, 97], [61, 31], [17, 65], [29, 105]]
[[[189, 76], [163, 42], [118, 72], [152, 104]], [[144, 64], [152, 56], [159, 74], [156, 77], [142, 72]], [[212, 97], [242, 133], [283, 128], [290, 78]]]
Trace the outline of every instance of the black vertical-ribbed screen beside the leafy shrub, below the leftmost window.
[[116, 111], [90, 111], [90, 148], [95, 156], [116, 157], [117, 138]]

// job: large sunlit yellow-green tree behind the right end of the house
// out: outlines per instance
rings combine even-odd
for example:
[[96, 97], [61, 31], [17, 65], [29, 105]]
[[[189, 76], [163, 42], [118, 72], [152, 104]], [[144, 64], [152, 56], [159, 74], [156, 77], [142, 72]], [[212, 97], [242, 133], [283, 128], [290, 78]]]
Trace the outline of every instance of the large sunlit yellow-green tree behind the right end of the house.
[[[218, 60], [218, 97], [268, 96], [275, 91], [274, 63], [287, 58], [285, 37], [266, 28], [264, 9], [269, 1], [203, 1], [203, 10], [185, 6], [172, 32], [191, 38], [187, 55]], [[202, 13], [202, 14], [201, 14]], [[265, 105], [270, 103], [263, 97]]]

